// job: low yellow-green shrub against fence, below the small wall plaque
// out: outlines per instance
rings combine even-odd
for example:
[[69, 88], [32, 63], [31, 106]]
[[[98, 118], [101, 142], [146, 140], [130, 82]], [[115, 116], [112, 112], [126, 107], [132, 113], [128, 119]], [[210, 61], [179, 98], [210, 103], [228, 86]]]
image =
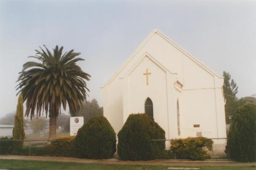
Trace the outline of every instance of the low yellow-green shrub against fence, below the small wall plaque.
[[209, 159], [206, 148], [212, 150], [213, 141], [205, 137], [188, 137], [171, 141], [171, 152], [177, 159]]

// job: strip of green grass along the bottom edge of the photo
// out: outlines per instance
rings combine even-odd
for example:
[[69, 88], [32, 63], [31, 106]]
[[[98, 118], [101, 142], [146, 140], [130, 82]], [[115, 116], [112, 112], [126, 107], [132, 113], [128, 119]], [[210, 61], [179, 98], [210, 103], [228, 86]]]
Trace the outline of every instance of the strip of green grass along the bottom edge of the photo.
[[[60, 158], [61, 159], [61, 158]], [[0, 159], [0, 168], [3, 169], [91, 169], [91, 170], [153, 170], [153, 169], [167, 169], [168, 167], [174, 166], [153, 166], [153, 165], [103, 165], [103, 164], [83, 164], [83, 163], [61, 163], [61, 162], [53, 162], [53, 161], [30, 161], [30, 160], [7, 160]], [[184, 167], [184, 166], [181, 166]], [[186, 166], [188, 167], [188, 166]], [[191, 167], [191, 166], [190, 166]], [[198, 166], [197, 166], [198, 167]], [[223, 170], [247, 170], [247, 169], [255, 169], [256, 166], [202, 166], [199, 167], [201, 170], [215, 170], [215, 169], [223, 169]]]

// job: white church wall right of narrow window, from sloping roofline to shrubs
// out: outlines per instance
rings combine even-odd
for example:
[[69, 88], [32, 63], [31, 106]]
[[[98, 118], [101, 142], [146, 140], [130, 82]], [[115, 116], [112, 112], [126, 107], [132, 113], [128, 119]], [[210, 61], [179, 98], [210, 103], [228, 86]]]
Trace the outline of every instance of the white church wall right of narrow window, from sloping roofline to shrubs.
[[220, 133], [226, 133], [226, 128], [222, 128], [221, 115], [225, 116], [225, 112], [223, 99], [219, 95], [222, 86], [219, 78], [199, 67], [190, 58], [183, 58], [183, 66], [184, 84], [181, 98], [182, 104], [186, 107], [181, 108], [182, 136], [196, 136], [197, 132], [202, 132], [202, 136], [205, 137], [222, 137]]

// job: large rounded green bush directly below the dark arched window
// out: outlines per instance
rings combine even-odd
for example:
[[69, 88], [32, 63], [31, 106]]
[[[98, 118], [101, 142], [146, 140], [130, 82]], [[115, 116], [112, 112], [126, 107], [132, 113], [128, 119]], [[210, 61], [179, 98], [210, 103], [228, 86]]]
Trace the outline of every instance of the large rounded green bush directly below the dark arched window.
[[165, 149], [164, 130], [146, 114], [130, 115], [118, 133], [117, 153], [122, 160], [156, 159]]

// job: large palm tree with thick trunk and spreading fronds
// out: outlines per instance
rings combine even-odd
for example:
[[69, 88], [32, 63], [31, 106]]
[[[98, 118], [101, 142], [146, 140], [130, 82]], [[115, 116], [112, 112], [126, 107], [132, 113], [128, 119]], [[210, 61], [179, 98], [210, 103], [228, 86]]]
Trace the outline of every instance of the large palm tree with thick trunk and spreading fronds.
[[29, 61], [23, 64], [19, 73], [18, 94], [21, 93], [26, 100], [25, 115], [32, 119], [35, 115], [41, 116], [44, 113], [50, 117], [49, 139], [56, 137], [56, 120], [61, 114], [61, 106], [66, 110], [67, 104], [71, 115], [80, 109], [86, 101], [87, 92], [85, 80], [90, 80], [90, 75], [83, 72], [77, 66], [77, 61], [84, 59], [77, 58], [81, 53], [74, 50], [62, 55], [63, 47], [58, 45], [53, 49], [53, 54], [44, 45], [45, 50], [35, 50], [35, 58], [39, 62]]

